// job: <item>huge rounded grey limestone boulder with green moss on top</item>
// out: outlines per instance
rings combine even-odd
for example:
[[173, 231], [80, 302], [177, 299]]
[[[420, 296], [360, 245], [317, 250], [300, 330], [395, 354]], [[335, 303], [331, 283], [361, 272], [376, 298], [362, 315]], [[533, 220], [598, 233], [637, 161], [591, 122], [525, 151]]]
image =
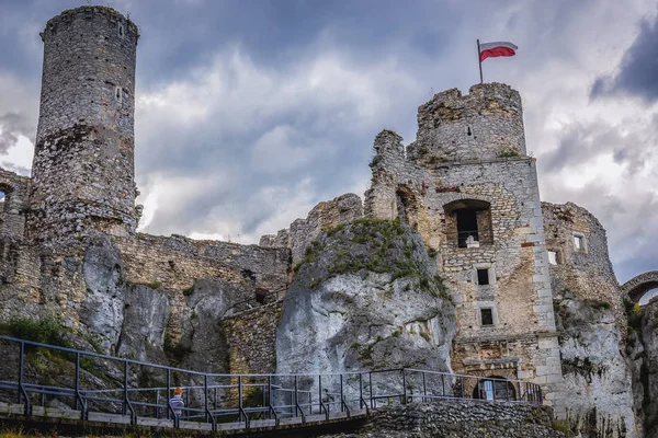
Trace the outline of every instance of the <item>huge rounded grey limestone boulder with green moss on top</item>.
[[397, 221], [338, 226], [296, 269], [276, 333], [277, 372], [450, 371], [454, 307], [418, 233]]

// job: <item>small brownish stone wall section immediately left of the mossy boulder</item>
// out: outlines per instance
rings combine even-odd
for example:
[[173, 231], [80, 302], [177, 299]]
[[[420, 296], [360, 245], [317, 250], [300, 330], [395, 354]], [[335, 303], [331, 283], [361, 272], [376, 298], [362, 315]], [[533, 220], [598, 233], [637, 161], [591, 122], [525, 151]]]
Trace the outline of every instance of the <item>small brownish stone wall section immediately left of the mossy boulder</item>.
[[276, 371], [276, 326], [283, 301], [247, 310], [222, 320], [228, 344], [231, 373], [253, 374]]

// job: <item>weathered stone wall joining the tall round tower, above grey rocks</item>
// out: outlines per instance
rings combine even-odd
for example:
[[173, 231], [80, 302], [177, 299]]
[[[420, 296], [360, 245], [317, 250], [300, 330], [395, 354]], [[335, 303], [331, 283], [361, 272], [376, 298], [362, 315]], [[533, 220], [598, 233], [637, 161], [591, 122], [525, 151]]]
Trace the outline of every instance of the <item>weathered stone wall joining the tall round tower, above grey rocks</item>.
[[200, 279], [215, 281], [211, 289], [226, 290], [227, 311], [231, 303], [254, 297], [256, 288], [285, 290], [290, 273], [290, 250], [264, 249], [217, 241], [194, 241], [183, 237], [137, 234], [117, 239], [132, 284], [161, 285], [169, 291], [169, 333], [178, 341], [184, 333], [191, 290]]

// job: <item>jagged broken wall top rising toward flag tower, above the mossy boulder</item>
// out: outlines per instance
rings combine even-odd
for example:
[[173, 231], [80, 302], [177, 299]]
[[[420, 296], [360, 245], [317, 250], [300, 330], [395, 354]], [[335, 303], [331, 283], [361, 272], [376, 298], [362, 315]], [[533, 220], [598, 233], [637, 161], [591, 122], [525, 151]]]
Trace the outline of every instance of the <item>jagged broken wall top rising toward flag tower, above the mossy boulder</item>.
[[328, 230], [339, 223], [349, 223], [363, 217], [361, 198], [353, 193], [348, 193], [315, 206], [306, 219], [295, 220], [288, 230], [280, 230], [276, 235], [263, 235], [261, 246], [290, 247], [293, 265], [304, 258], [306, 247], [321, 231]]

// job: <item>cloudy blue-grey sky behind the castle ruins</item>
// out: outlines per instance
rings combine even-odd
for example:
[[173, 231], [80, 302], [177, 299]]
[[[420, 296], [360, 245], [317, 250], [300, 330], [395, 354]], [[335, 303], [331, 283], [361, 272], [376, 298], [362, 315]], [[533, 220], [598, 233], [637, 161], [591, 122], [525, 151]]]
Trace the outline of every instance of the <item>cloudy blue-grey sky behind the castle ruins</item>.
[[[29, 173], [38, 32], [82, 0], [0, 0], [0, 165]], [[98, 1], [91, 1], [98, 4]], [[367, 188], [383, 128], [408, 143], [432, 93], [521, 92], [544, 200], [608, 229], [621, 281], [658, 268], [658, 5], [647, 0], [110, 0], [139, 27], [141, 230], [258, 242]]]

